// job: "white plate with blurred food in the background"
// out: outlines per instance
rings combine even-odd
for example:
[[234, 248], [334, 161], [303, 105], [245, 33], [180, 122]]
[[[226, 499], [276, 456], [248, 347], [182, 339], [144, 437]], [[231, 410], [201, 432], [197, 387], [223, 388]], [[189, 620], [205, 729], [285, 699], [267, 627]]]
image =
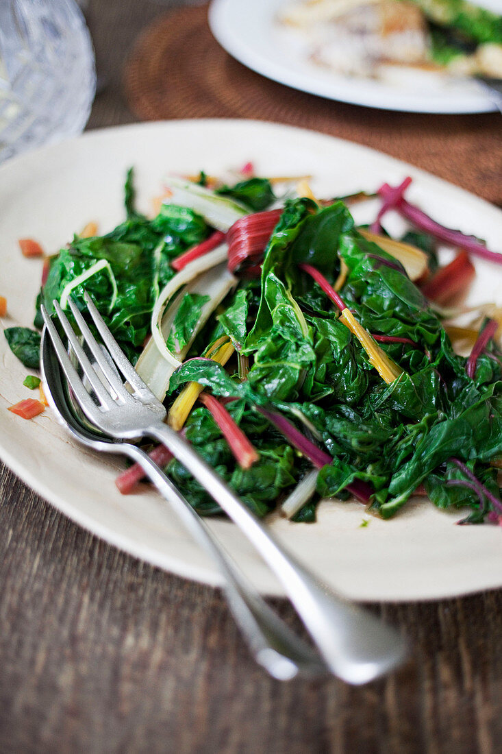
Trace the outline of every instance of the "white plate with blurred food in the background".
[[[497, 107], [474, 81], [442, 75], [393, 72], [393, 82], [349, 78], [308, 60], [293, 32], [276, 21], [289, 0], [213, 0], [213, 35], [232, 57], [273, 81], [311, 94], [405, 112], [491, 112]], [[478, 3], [487, 4], [488, 0]], [[489, 7], [489, 6], [487, 6]], [[494, 8], [492, 9], [494, 10]]]

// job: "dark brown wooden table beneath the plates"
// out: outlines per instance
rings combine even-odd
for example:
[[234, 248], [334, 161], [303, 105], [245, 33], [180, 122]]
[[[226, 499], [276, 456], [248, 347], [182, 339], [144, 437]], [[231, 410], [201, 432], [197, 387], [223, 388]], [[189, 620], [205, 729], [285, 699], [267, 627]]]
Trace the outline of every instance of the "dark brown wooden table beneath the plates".
[[[140, 29], [165, 12], [166, 5], [155, 3], [91, 0], [103, 89], [89, 127], [138, 118], [124, 97], [124, 60]], [[204, 12], [186, 10], [199, 24]], [[237, 66], [241, 75], [254, 77], [253, 87], [263, 87], [264, 97], [279, 96], [278, 84], [245, 72], [222, 51], [214, 55], [222, 56], [227, 72]], [[378, 124], [380, 148], [393, 154], [403, 144], [392, 138], [396, 122], [409, 133], [413, 124], [416, 132], [426, 123], [425, 116], [297, 96], [311, 113], [323, 104], [323, 117], [327, 111], [332, 121], [323, 120], [322, 130], [344, 135], [358, 124], [363, 130], [356, 140], [372, 143]], [[473, 129], [491, 143], [500, 129], [492, 115], [439, 117], [436, 123], [442, 129], [437, 143], [424, 125], [426, 151], [415, 132], [410, 136], [417, 164], [440, 151], [445, 130], [465, 136], [465, 149]], [[495, 165], [501, 155], [499, 140]], [[438, 165], [436, 172], [448, 173], [446, 164]], [[465, 188], [482, 181], [481, 168], [455, 170], [451, 179]], [[497, 180], [487, 198], [500, 203], [500, 171], [492, 165], [491, 172]], [[489, 177], [485, 173], [485, 189]], [[406, 667], [363, 688], [335, 679], [283, 684], [249, 659], [218, 590], [99, 541], [7, 467], [0, 467], [0, 553], [2, 752], [485, 754], [502, 747], [502, 591], [372, 605], [412, 638]], [[273, 602], [286, 620], [295, 620], [286, 603]]]

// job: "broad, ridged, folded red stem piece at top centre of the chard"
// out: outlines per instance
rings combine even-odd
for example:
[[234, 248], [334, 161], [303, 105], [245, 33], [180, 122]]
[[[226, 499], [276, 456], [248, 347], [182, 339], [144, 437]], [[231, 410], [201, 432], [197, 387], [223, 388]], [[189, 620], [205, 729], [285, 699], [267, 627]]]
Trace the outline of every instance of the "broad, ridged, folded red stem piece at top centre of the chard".
[[261, 261], [282, 213], [282, 209], [255, 212], [234, 222], [227, 234], [228, 269], [231, 272], [237, 270], [243, 262], [256, 266]]

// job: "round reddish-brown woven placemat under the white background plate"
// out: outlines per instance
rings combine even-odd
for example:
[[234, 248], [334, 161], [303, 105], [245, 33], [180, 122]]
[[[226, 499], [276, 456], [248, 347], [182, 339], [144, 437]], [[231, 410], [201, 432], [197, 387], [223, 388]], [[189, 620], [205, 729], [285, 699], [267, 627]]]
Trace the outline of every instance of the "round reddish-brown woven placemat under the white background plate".
[[269, 81], [216, 42], [207, 6], [163, 15], [139, 36], [124, 70], [141, 120], [256, 118], [330, 133], [386, 152], [502, 206], [502, 116], [426, 115], [325, 100]]

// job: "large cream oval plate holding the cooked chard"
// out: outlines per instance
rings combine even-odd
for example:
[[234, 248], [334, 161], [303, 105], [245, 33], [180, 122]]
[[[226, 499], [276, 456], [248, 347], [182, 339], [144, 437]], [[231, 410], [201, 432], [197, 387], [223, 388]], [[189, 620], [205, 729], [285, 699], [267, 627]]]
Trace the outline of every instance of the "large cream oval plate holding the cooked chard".
[[[124, 219], [123, 183], [136, 171], [140, 208], [148, 212], [167, 172], [222, 173], [253, 161], [261, 175], [311, 174], [320, 196], [375, 189], [411, 175], [412, 201], [451, 227], [486, 238], [500, 250], [502, 213], [438, 178], [366, 147], [311, 131], [255, 121], [170, 121], [93, 131], [22, 155], [0, 167], [0, 295], [4, 327], [30, 326], [41, 275], [18, 238], [54, 253], [90, 220], [101, 232]], [[471, 301], [502, 303], [502, 270], [476, 262]], [[32, 393], [26, 369], [0, 335], [0, 456], [67, 516], [128, 553], [187, 578], [218, 584], [219, 575], [155, 492], [122, 496], [114, 478], [124, 462], [96, 455], [69, 439], [51, 410], [32, 421], [8, 406]], [[361, 600], [409, 600], [502, 586], [502, 529], [455, 526], [461, 512], [442, 513], [427, 500], [381, 521], [355, 502], [321, 504], [317, 523], [271, 516], [277, 537], [320, 577]], [[361, 523], [369, 520], [368, 526]], [[246, 538], [226, 520], [210, 526], [263, 593], [283, 593]]]

